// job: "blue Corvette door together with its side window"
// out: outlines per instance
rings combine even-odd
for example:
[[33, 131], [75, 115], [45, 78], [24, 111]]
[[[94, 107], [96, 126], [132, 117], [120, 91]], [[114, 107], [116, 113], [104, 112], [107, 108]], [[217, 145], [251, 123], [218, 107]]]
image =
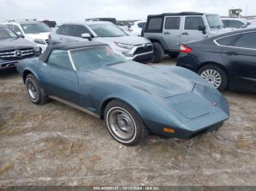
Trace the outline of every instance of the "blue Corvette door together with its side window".
[[39, 71], [42, 88], [48, 95], [80, 104], [78, 75], [69, 61], [67, 50], [53, 50]]

